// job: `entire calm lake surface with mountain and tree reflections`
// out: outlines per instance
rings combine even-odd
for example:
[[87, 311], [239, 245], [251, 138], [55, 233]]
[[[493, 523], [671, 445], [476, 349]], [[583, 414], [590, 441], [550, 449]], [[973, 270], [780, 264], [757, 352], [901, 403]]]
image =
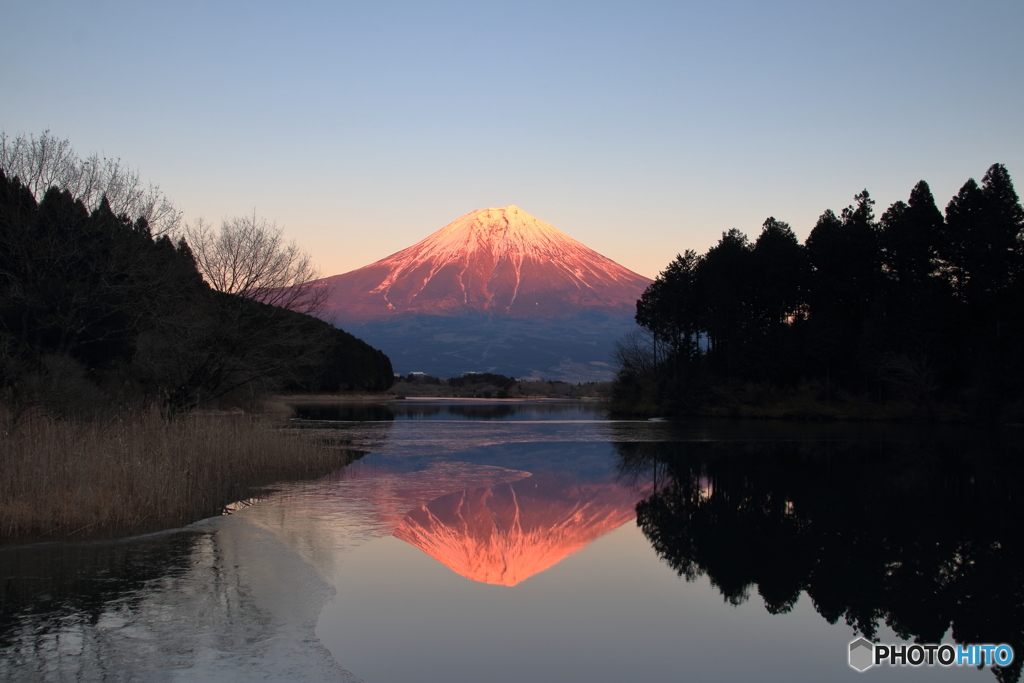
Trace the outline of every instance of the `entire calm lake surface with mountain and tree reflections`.
[[[0, 550], [0, 679], [1020, 679], [1018, 427], [427, 400], [291, 425], [367, 455], [185, 529]], [[861, 635], [1017, 658], [858, 674]]]

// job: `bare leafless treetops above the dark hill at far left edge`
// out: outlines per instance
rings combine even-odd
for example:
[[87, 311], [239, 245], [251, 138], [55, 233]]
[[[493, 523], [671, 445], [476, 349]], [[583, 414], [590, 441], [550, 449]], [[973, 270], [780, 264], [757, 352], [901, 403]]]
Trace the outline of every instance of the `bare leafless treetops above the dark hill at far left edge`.
[[142, 182], [138, 171], [120, 159], [96, 154], [81, 159], [70, 141], [48, 130], [39, 137], [19, 134], [13, 138], [0, 131], [0, 169], [9, 178], [18, 177], [36, 201], [50, 187], [57, 187], [93, 211], [106, 197], [115, 215], [132, 221], [145, 219], [157, 237], [175, 232], [181, 223], [181, 212], [158, 185]]

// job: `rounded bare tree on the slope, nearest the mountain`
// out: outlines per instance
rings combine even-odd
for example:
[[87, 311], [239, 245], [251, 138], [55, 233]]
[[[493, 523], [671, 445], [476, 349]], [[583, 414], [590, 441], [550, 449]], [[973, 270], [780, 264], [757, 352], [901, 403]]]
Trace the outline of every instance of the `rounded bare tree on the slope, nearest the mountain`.
[[185, 239], [210, 287], [260, 303], [315, 314], [330, 291], [309, 254], [286, 242], [276, 223], [256, 215], [224, 220], [216, 230], [202, 218], [185, 226]]

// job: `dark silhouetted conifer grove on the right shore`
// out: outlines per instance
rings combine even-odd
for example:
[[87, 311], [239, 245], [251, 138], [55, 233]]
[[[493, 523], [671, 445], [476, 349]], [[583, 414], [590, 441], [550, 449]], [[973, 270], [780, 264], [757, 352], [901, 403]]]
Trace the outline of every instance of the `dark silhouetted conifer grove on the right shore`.
[[1024, 209], [1002, 165], [944, 216], [925, 181], [880, 218], [864, 190], [804, 244], [768, 218], [753, 242], [732, 229], [678, 256], [637, 302], [645, 334], [618, 345], [613, 401], [671, 415], [788, 397], [805, 401], [794, 415], [869, 401], [1008, 419], [1024, 388], [1022, 302]]

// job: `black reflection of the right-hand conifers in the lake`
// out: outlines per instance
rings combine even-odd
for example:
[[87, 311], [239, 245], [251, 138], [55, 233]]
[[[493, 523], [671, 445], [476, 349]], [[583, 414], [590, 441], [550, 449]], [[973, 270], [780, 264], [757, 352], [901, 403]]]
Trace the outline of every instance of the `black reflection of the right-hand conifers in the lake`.
[[[637, 523], [680, 575], [772, 613], [806, 591], [874, 637], [1009, 643], [1024, 653], [1024, 453], [965, 442], [620, 443], [653, 481]], [[1020, 679], [1022, 660], [995, 669]]]

